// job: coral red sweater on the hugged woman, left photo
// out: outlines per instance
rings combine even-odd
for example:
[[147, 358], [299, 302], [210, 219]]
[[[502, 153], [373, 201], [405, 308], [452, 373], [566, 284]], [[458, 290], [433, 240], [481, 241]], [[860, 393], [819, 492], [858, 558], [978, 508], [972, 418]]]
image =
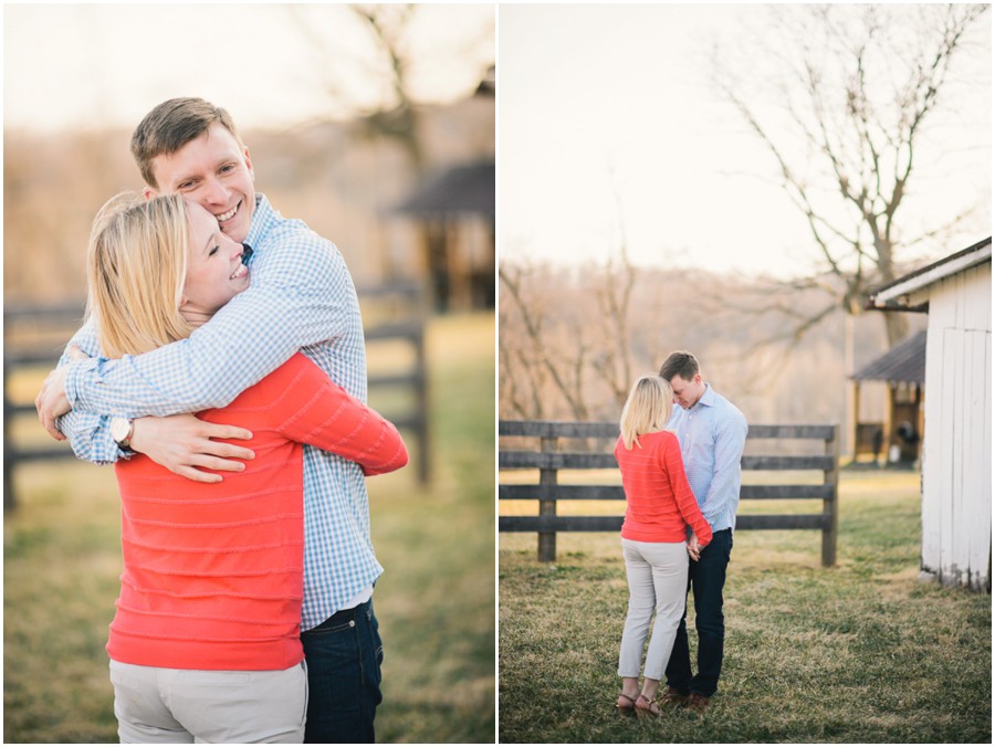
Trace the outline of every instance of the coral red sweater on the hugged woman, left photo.
[[400, 469], [397, 429], [297, 354], [201, 420], [252, 431], [255, 459], [220, 483], [144, 455], [116, 464], [124, 572], [107, 653], [126, 664], [283, 670], [304, 656], [303, 446]]

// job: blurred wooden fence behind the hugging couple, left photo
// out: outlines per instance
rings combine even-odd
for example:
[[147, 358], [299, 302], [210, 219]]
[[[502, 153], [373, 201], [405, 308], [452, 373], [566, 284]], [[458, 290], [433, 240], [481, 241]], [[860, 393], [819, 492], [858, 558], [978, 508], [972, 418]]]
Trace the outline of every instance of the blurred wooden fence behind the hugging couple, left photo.
[[[363, 307], [367, 355], [371, 361], [369, 390], [381, 397], [388, 406], [384, 417], [398, 429], [413, 434], [418, 442], [412, 449], [418, 478], [427, 483], [431, 476], [428, 369], [426, 365], [425, 326], [428, 316], [425, 290], [415, 283], [391, 284], [359, 288]], [[9, 306], [3, 309], [3, 507], [12, 508], [17, 502], [13, 492], [13, 473], [27, 462], [74, 457], [69, 444], [53, 441], [38, 423], [33, 398], [23, 391], [12, 391], [11, 382], [19, 374], [33, 374], [41, 386], [41, 377], [51, 370], [62, 354], [65, 343], [83, 320], [81, 303], [46, 306]], [[377, 367], [378, 347], [402, 347], [386, 356], [391, 361]], [[398, 367], [396, 361], [400, 360]], [[376, 404], [375, 404], [376, 407]], [[31, 432], [25, 421], [34, 421], [36, 432], [32, 438], [21, 438]], [[41, 434], [39, 436], [38, 434]]]

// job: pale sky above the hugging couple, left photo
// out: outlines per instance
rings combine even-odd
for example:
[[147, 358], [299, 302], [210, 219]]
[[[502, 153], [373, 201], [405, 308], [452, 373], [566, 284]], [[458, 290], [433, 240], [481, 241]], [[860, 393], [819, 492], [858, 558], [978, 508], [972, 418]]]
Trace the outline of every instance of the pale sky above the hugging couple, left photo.
[[[325, 54], [294, 11], [326, 41]], [[3, 15], [8, 127], [133, 127], [174, 96], [223, 106], [243, 129], [282, 127], [343, 116], [380, 93], [364, 75], [369, 34], [342, 6], [6, 3]], [[408, 43], [421, 101], [475, 88], [494, 62], [494, 15], [492, 4], [417, 9]]]

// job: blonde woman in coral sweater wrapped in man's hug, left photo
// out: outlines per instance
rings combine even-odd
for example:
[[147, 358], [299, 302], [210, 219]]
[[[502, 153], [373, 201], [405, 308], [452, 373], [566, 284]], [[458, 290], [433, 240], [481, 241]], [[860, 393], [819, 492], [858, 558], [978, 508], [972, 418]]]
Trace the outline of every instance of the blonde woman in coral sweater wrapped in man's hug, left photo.
[[[179, 194], [108, 202], [87, 259], [103, 354], [188, 337], [249, 287], [242, 254]], [[404, 466], [407, 450], [391, 423], [300, 353], [198, 417], [251, 431], [243, 471], [201, 483], [143, 454], [115, 464], [124, 571], [107, 652], [121, 739], [302, 741], [302, 444], [367, 475]], [[128, 435], [115, 438], [127, 446]]]

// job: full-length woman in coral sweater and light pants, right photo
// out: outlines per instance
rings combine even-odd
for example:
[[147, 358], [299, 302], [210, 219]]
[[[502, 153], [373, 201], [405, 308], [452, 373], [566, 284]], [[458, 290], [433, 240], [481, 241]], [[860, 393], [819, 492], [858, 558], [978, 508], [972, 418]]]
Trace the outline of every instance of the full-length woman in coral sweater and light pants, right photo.
[[[684, 613], [688, 557], [696, 559], [712, 539], [712, 529], [688, 484], [678, 438], [663, 430], [672, 407], [673, 391], [664, 379], [641, 377], [622, 409], [615, 448], [626, 495], [621, 544], [629, 583], [618, 659], [622, 678], [618, 708], [640, 717], [660, 715], [657, 690]], [[640, 691], [639, 664], [654, 610]]]

